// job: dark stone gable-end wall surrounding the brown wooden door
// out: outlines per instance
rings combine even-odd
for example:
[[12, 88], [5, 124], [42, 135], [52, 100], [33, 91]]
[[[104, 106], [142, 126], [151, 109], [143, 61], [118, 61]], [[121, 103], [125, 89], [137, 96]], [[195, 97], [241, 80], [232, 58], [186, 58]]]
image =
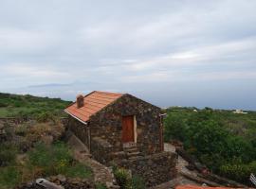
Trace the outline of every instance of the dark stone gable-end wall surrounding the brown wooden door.
[[160, 109], [130, 94], [105, 107], [90, 118], [91, 137], [107, 140], [116, 151], [122, 150], [122, 116], [136, 115], [137, 147], [143, 155], [161, 151]]

